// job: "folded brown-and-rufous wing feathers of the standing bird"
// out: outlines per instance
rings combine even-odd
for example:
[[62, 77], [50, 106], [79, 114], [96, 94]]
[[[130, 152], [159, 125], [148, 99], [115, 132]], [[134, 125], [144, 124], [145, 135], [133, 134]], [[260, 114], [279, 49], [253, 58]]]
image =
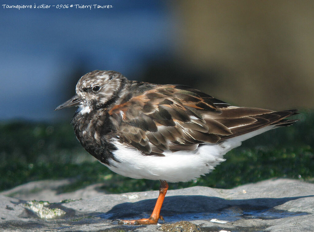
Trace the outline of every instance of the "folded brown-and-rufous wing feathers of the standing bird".
[[295, 112], [231, 106], [188, 86], [161, 85], [115, 105], [109, 115], [122, 141], [146, 154], [161, 155], [165, 150], [218, 143], [280, 123]]

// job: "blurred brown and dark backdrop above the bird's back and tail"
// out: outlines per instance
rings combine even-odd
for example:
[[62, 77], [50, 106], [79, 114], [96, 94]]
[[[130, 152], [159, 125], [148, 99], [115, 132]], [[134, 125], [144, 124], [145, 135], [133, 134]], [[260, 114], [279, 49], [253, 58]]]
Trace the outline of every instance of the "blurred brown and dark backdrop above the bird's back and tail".
[[[144, 77], [232, 104], [313, 108], [313, 1], [179, 1], [175, 53]], [[172, 78], [171, 78], [172, 77]]]

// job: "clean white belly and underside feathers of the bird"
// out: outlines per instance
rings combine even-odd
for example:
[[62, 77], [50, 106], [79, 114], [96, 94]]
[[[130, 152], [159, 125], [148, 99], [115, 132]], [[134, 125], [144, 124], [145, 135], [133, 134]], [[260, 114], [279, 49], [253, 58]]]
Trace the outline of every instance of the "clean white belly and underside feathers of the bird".
[[165, 156], [144, 155], [135, 148], [123, 145], [117, 140], [113, 144], [118, 148], [113, 152], [119, 161], [110, 161], [106, 165], [110, 170], [135, 179], [165, 180], [168, 182], [191, 181], [205, 175], [220, 162], [225, 161], [224, 154], [241, 145], [241, 141], [274, 128], [263, 127], [259, 130], [230, 138], [219, 144], [204, 144], [194, 151], [167, 151]]

